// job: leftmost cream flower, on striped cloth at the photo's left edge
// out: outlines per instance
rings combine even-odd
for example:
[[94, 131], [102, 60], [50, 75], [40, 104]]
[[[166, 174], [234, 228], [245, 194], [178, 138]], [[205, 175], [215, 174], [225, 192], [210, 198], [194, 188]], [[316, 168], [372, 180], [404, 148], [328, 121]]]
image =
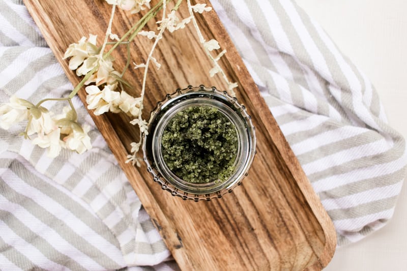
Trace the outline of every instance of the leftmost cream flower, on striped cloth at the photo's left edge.
[[0, 106], [0, 127], [8, 130], [13, 124], [28, 119], [27, 108], [33, 106], [32, 103], [26, 100], [12, 96], [10, 103], [4, 103]]

